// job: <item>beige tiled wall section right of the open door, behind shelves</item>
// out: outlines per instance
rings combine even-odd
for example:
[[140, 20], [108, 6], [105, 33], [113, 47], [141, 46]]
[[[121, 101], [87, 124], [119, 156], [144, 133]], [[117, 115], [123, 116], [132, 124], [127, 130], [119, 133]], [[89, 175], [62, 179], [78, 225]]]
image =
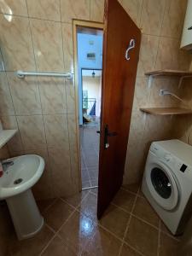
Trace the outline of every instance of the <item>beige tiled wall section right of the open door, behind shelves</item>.
[[175, 118], [144, 114], [139, 108], [180, 105], [170, 96], [159, 96], [160, 89], [179, 95], [182, 88], [178, 89], [178, 79], [156, 77], [149, 87], [144, 72], [163, 68], [189, 70], [191, 55], [179, 49], [187, 1], [121, 0], [121, 3], [143, 32], [124, 177], [124, 183], [135, 183], [142, 178], [150, 143], [177, 137], [173, 134]]

